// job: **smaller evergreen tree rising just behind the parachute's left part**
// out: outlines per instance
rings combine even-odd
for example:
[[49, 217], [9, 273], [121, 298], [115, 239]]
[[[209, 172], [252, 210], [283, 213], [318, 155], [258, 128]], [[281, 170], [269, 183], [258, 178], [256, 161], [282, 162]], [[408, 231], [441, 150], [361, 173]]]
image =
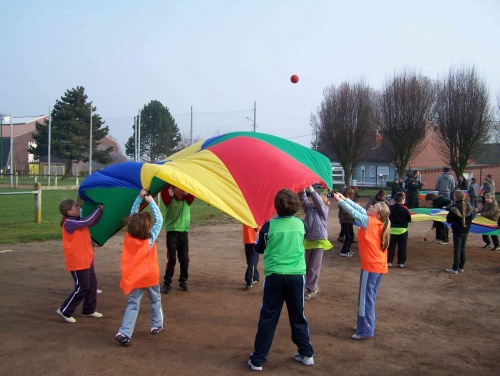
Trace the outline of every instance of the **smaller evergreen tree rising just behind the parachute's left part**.
[[[141, 110], [139, 160], [157, 162], [177, 150], [181, 142], [179, 127], [167, 107], [153, 100]], [[135, 129], [125, 145], [125, 153], [135, 156]]]

